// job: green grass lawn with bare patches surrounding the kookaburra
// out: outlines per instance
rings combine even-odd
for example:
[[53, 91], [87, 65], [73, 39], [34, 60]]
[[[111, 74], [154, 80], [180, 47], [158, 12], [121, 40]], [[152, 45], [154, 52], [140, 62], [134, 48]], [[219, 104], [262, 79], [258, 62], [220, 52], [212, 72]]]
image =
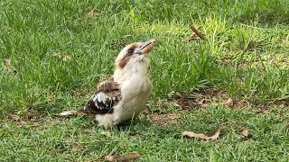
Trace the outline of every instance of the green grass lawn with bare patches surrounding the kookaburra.
[[[103, 161], [130, 152], [138, 161], [288, 161], [287, 6], [1, 1], [0, 161]], [[184, 42], [189, 24], [206, 40]], [[154, 90], [138, 120], [106, 131], [87, 116], [58, 116], [79, 109], [112, 75], [124, 44], [152, 38]], [[182, 137], [218, 128], [218, 139]]]

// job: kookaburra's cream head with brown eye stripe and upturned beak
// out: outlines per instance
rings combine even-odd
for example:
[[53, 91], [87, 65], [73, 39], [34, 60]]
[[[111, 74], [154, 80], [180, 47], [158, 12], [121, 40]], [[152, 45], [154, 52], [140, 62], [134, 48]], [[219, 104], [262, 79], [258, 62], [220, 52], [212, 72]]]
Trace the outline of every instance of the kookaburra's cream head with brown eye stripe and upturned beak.
[[153, 49], [156, 40], [134, 42], [122, 49], [115, 61], [114, 76], [127, 75], [127, 73], [142, 73], [146, 75], [150, 62], [148, 53]]

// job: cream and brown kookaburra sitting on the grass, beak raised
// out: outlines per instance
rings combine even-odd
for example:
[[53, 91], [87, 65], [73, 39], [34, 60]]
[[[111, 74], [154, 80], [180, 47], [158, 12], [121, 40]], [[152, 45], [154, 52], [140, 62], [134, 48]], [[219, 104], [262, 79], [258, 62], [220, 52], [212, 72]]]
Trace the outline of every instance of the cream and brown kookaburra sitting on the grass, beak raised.
[[61, 115], [87, 113], [106, 129], [137, 117], [152, 89], [147, 69], [150, 63], [148, 53], [155, 41], [126, 45], [115, 60], [113, 77], [98, 85], [96, 94], [90, 97], [83, 109], [61, 112]]

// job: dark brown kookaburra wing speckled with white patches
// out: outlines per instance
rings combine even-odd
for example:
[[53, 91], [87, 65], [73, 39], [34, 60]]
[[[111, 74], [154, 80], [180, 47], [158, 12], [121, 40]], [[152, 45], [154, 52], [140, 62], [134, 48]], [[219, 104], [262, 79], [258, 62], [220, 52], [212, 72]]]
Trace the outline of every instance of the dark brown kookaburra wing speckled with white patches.
[[97, 93], [86, 103], [84, 111], [92, 114], [112, 113], [113, 107], [121, 100], [119, 86], [111, 78], [98, 85]]

